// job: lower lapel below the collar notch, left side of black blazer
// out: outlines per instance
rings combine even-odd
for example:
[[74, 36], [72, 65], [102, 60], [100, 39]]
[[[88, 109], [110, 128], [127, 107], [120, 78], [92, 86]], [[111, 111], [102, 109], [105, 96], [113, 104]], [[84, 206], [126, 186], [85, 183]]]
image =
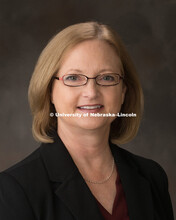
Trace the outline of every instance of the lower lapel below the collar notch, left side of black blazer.
[[103, 220], [92, 193], [77, 171], [61, 184], [55, 193], [69, 207], [76, 219]]

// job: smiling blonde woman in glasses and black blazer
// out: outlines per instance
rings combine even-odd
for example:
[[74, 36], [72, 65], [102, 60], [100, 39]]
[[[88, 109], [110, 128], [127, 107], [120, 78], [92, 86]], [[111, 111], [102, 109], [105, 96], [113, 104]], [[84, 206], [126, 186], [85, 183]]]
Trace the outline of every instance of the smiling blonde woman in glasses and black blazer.
[[112, 143], [136, 135], [143, 109], [135, 68], [112, 29], [87, 22], [58, 33], [38, 60], [29, 102], [42, 144], [1, 173], [0, 219], [173, 219], [163, 169]]

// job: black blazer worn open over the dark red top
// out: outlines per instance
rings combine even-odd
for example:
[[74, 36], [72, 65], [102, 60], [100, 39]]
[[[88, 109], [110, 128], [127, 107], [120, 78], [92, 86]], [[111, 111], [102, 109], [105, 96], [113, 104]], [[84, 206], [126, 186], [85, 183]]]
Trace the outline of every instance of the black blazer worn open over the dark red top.
[[[130, 220], [173, 220], [167, 176], [154, 161], [112, 143]], [[1, 220], [102, 220], [96, 200], [61, 139], [41, 144], [0, 174]]]

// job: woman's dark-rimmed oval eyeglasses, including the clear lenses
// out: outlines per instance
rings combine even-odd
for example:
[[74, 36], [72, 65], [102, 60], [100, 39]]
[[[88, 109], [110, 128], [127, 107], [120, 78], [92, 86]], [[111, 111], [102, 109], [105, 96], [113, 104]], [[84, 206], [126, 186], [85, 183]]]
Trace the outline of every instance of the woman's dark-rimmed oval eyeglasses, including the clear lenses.
[[64, 85], [71, 87], [84, 86], [89, 79], [95, 79], [96, 84], [99, 86], [115, 86], [120, 83], [120, 79], [124, 79], [123, 76], [117, 73], [106, 73], [92, 78], [82, 74], [67, 74], [62, 77], [54, 76], [53, 78], [62, 80]]

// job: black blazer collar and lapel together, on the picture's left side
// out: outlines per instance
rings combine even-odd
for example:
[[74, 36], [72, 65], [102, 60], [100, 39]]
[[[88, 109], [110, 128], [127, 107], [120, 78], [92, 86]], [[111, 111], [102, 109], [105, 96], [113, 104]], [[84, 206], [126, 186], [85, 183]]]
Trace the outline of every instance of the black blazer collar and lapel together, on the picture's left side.
[[103, 220], [97, 202], [58, 135], [54, 143], [42, 144], [41, 155], [54, 182], [55, 194], [77, 220]]

